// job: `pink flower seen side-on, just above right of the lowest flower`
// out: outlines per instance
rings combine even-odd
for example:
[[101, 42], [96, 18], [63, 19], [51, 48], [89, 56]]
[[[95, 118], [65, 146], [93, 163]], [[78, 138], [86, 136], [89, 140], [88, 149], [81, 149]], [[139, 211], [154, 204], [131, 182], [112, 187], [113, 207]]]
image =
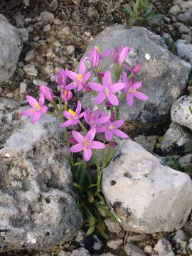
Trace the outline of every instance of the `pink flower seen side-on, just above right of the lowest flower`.
[[107, 139], [107, 141], [111, 141], [113, 134], [115, 134], [117, 137], [120, 137], [122, 139], [127, 139], [129, 138], [129, 136], [127, 134], [125, 134], [124, 132], [122, 132], [120, 129], [118, 129], [119, 127], [122, 127], [124, 123], [123, 119], [111, 122], [110, 120], [107, 121], [103, 127], [100, 127], [100, 129], [98, 129], [97, 132], [105, 132], [105, 139]]

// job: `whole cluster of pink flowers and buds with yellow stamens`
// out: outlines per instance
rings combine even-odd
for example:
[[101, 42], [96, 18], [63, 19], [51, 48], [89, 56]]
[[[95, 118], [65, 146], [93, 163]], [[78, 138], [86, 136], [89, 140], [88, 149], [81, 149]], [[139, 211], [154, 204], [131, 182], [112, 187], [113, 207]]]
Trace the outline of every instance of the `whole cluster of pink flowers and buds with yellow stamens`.
[[[95, 135], [97, 133], [103, 132], [105, 133], [105, 139], [109, 142], [109, 145], [112, 145], [112, 139], [115, 136], [120, 137], [122, 139], [127, 139], [128, 136], [124, 132], [122, 132], [119, 128], [124, 124], [123, 119], [115, 120], [115, 112], [112, 112], [119, 105], [120, 100], [126, 97], [127, 104], [132, 106], [134, 104], [134, 97], [139, 100], [148, 100], [143, 92], [138, 91], [138, 89], [142, 86], [142, 82], [134, 82], [136, 75], [140, 68], [142, 67], [142, 63], [139, 63], [136, 67], [130, 68], [128, 65], [124, 64], [124, 60], [127, 58], [127, 55], [131, 48], [119, 46], [119, 52], [117, 48], [114, 48], [113, 51], [113, 61], [115, 65], [115, 74], [117, 75], [117, 82], [112, 81], [112, 74], [110, 70], [102, 71], [102, 58], [109, 56], [112, 53], [112, 50], [107, 50], [105, 53], [100, 53], [100, 49], [95, 46], [92, 51], [89, 53], [89, 58], [87, 61], [90, 61], [92, 67], [95, 68], [95, 71], [100, 77], [100, 82], [90, 82], [91, 72], [86, 73], [85, 61], [80, 62], [80, 67], [78, 73], [75, 73], [70, 70], [64, 70], [63, 68], [59, 70], [58, 75], [55, 76], [56, 81], [60, 87], [60, 99], [65, 102], [65, 105], [68, 105], [68, 102], [73, 97], [73, 92], [75, 88], [79, 91], [85, 90], [88, 93], [92, 93], [95, 95], [95, 105], [100, 105], [102, 102], [105, 103], [107, 107], [110, 107], [111, 114], [106, 114], [105, 112], [100, 112], [100, 110], [95, 110], [90, 112], [90, 109], [87, 108], [84, 112], [82, 110], [82, 104], [80, 100], [78, 101], [78, 105], [76, 110], [68, 109], [57, 110], [60, 114], [63, 114], [63, 119], [65, 122], [60, 124], [60, 127], [69, 127], [76, 124], [80, 124], [80, 126], [85, 127], [82, 123], [81, 119], [84, 117], [86, 122], [86, 127], [88, 127], [88, 132], [85, 137], [80, 134], [80, 132], [73, 131], [73, 137], [69, 139], [72, 144], [75, 144], [70, 147], [70, 151], [80, 152], [83, 151], [83, 156], [85, 161], [89, 161], [92, 156], [92, 149], [103, 149], [105, 148], [105, 144], [102, 142], [94, 141]], [[127, 73], [122, 73], [122, 66], [129, 70], [129, 76], [127, 77]], [[122, 75], [121, 75], [122, 73]], [[72, 80], [72, 82], [68, 83], [68, 78]], [[55, 104], [55, 95], [53, 95], [52, 90], [46, 85], [41, 85], [39, 87], [40, 90], [40, 98], [37, 102], [36, 99], [27, 95], [26, 99], [28, 100], [29, 105], [31, 105], [31, 109], [23, 112], [23, 115], [33, 116], [32, 123], [36, 123], [38, 119], [41, 117], [41, 114], [45, 114], [48, 111], [48, 107], [44, 106], [45, 100], [48, 100], [53, 107], [57, 107]], [[118, 97], [117, 92], [121, 91], [121, 96]], [[66, 105], [66, 106], [67, 106]], [[106, 142], [106, 143], [107, 143]]]

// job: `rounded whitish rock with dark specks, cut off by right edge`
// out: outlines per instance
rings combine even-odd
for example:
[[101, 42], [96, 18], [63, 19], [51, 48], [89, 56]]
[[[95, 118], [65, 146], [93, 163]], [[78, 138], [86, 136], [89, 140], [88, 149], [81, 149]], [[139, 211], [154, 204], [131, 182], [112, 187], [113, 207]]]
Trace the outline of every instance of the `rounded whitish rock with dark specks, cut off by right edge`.
[[171, 107], [171, 120], [192, 130], [192, 96], [181, 96]]

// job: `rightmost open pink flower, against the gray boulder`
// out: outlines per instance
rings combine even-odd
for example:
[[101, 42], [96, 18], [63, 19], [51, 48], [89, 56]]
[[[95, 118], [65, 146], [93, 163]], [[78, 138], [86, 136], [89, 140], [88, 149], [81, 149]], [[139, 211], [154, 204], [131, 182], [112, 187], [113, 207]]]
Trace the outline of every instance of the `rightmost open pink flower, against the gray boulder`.
[[142, 82], [134, 83], [134, 78], [132, 78], [132, 80], [128, 80], [127, 74], [125, 72], [122, 75], [122, 79], [125, 84], [124, 92], [127, 94], [126, 100], [129, 106], [133, 105], [134, 97], [137, 97], [139, 100], [149, 100], [147, 95], [145, 95], [143, 92], [137, 91], [137, 89], [142, 86]]

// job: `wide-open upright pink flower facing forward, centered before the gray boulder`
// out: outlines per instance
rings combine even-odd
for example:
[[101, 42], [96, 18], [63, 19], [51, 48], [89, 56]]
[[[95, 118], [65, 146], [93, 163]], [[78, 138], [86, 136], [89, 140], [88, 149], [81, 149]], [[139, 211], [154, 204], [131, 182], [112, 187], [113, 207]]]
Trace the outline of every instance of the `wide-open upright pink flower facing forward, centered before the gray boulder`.
[[112, 105], [119, 105], [119, 100], [114, 95], [114, 92], [119, 92], [124, 87], [123, 82], [117, 82], [112, 84], [112, 75], [110, 71], [106, 71], [102, 78], [102, 85], [97, 82], [89, 82], [90, 88], [99, 92], [95, 98], [95, 104], [102, 103], [106, 98], [111, 102]]

